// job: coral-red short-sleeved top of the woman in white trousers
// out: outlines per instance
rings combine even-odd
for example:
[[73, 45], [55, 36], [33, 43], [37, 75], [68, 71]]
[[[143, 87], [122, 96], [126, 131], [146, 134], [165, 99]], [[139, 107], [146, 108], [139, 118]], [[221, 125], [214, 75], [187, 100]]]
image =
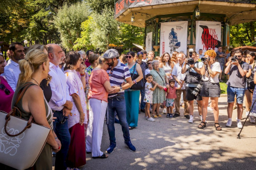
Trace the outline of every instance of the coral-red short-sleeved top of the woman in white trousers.
[[103, 85], [106, 81], [109, 81], [109, 76], [105, 70], [93, 70], [90, 76], [90, 91], [88, 99], [94, 98], [108, 102], [108, 92], [106, 92]]

